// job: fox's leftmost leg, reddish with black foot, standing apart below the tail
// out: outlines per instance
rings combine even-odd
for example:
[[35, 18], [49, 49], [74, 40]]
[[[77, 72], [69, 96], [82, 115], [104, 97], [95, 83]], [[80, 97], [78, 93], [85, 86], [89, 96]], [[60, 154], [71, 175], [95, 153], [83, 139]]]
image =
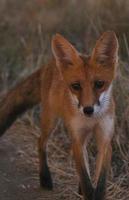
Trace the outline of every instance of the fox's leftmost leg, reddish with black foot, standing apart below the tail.
[[47, 163], [47, 153], [46, 146], [47, 141], [52, 132], [53, 128], [55, 128], [55, 120], [54, 116], [49, 109], [44, 109], [41, 114], [41, 129], [42, 133], [38, 142], [38, 150], [39, 150], [39, 176], [40, 176], [40, 185], [43, 188], [52, 190], [53, 183], [51, 178], [51, 173]]

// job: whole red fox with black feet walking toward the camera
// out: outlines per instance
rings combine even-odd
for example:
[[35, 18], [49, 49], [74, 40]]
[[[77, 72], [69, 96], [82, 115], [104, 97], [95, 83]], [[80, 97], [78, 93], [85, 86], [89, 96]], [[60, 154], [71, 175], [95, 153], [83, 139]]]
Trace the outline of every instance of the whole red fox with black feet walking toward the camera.
[[[53, 59], [10, 90], [0, 102], [0, 135], [18, 115], [41, 102], [41, 136], [38, 142], [40, 184], [52, 189], [46, 146], [59, 118], [72, 138], [72, 150], [85, 200], [105, 198], [111, 161], [115, 106], [112, 85], [118, 61], [118, 41], [112, 31], [96, 42], [90, 56], [80, 54], [63, 36], [52, 38]], [[98, 148], [95, 183], [92, 184], [86, 151], [90, 135]]]

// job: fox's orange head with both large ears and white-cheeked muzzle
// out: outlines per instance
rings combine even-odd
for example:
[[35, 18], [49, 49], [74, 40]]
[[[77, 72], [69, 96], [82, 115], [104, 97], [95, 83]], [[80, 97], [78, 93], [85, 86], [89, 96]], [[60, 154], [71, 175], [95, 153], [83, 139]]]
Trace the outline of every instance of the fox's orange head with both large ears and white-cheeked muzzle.
[[90, 56], [82, 56], [64, 37], [52, 39], [52, 52], [77, 108], [86, 116], [101, 116], [111, 100], [118, 60], [118, 41], [105, 32]]

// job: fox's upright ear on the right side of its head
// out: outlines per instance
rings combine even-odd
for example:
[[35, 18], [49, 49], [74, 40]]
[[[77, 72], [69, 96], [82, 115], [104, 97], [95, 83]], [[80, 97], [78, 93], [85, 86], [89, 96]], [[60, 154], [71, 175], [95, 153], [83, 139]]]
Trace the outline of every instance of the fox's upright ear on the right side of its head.
[[115, 65], [118, 60], [118, 46], [118, 40], [113, 31], [103, 33], [96, 42], [91, 60], [102, 66]]

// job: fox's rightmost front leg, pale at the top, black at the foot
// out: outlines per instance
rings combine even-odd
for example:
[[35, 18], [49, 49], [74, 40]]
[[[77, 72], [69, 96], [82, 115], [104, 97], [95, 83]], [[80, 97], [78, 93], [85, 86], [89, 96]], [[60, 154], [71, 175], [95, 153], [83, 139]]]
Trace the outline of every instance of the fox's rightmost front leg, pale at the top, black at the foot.
[[[107, 123], [107, 122], [110, 122]], [[96, 127], [97, 161], [95, 173], [95, 200], [104, 200], [106, 193], [106, 177], [109, 171], [112, 147], [111, 139], [114, 132], [114, 120], [112, 116], [106, 116]]]

